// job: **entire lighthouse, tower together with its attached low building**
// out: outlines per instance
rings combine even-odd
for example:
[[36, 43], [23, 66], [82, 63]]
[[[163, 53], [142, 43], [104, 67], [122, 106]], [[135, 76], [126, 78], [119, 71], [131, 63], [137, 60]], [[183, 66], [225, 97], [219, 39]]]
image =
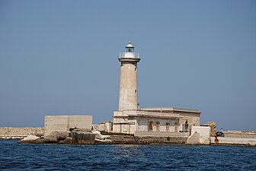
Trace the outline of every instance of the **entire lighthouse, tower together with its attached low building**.
[[139, 53], [129, 42], [120, 53], [119, 109], [114, 111], [113, 132], [134, 134], [135, 131], [190, 132], [191, 126], [200, 126], [200, 110], [181, 108], [139, 109], [137, 63]]

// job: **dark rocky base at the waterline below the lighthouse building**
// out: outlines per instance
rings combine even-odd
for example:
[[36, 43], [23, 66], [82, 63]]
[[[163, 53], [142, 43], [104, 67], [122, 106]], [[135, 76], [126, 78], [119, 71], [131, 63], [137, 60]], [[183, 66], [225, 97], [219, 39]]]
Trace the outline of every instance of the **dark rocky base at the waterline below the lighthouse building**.
[[19, 141], [32, 144], [186, 144], [187, 137], [155, 137], [133, 135], [101, 135], [100, 131], [73, 130], [66, 132], [52, 132], [47, 136], [33, 136]]

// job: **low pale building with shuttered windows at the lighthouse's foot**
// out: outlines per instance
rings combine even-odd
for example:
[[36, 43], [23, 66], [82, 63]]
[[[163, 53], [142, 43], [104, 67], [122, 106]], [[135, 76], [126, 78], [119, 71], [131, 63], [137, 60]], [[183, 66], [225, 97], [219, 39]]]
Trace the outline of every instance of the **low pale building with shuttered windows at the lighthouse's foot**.
[[[187, 128], [185, 129], [185, 123]], [[123, 110], [114, 111], [113, 131], [134, 134], [134, 131], [191, 131], [191, 126], [200, 126], [200, 113]], [[149, 126], [151, 125], [151, 126]]]

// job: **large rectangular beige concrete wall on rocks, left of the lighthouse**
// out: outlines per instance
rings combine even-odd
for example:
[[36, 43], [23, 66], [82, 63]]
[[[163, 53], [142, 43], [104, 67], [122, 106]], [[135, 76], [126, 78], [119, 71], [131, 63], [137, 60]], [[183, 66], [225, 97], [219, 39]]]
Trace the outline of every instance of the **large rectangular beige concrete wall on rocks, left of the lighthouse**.
[[92, 116], [45, 116], [44, 135], [53, 131], [69, 131], [69, 128], [88, 128], [91, 130]]

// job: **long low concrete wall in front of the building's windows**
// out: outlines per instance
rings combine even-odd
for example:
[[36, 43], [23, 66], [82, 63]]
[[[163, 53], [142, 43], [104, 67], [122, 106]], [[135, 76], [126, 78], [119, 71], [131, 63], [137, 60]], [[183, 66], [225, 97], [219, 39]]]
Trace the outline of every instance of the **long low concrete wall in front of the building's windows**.
[[136, 137], [188, 137], [188, 132], [168, 132], [168, 131], [135, 131]]

